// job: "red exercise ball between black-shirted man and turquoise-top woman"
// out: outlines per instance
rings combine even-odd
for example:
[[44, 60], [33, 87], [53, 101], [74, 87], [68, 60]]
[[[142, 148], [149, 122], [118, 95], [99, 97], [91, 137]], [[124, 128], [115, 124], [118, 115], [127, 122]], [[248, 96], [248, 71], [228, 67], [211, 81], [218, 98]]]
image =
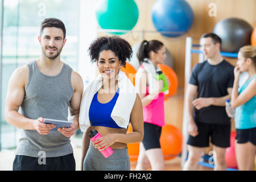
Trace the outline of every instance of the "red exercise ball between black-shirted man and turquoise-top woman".
[[232, 131], [230, 134], [230, 147], [226, 148], [225, 160], [226, 167], [237, 168], [237, 159], [236, 159], [236, 150], [235, 150], [235, 142], [236, 142], [236, 131]]

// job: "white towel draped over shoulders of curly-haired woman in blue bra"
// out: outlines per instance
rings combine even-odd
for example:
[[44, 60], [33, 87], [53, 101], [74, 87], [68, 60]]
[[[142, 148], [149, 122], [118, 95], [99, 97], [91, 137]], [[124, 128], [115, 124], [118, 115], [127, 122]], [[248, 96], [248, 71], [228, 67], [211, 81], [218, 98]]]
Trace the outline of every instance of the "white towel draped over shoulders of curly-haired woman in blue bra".
[[[119, 96], [117, 98], [117, 102], [115, 102], [111, 117], [119, 127], [127, 128], [137, 93], [135, 86], [131, 83], [124, 72], [119, 71], [117, 79], [119, 86]], [[99, 75], [88, 85], [82, 94], [79, 114], [79, 125], [82, 132], [86, 132], [90, 126], [90, 104], [92, 103], [94, 94], [96, 94], [96, 92], [100, 90], [101, 87], [102, 76]]]

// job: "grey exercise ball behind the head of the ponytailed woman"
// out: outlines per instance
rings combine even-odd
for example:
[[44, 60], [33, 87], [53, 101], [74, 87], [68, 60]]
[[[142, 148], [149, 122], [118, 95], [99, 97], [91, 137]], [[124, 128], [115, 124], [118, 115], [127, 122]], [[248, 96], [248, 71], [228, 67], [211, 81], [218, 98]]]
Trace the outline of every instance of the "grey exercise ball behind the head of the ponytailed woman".
[[[136, 43], [133, 48], [133, 57], [131, 58], [130, 64], [133, 65], [133, 67], [138, 70], [140, 65], [139, 65], [139, 60], [137, 57], [137, 52], [139, 50], [139, 46], [141, 46], [141, 43]], [[164, 64], [166, 64], [168, 67], [171, 67], [174, 69], [174, 60], [172, 59], [172, 55], [170, 51], [166, 48], [166, 60], [164, 60]]]

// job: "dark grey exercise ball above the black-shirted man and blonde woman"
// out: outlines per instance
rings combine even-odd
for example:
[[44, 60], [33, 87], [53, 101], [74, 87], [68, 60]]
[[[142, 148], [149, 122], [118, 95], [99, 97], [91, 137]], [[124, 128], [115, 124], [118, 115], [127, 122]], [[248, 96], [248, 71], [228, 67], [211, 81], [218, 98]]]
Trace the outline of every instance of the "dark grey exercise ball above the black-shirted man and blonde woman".
[[253, 27], [240, 18], [222, 19], [213, 28], [213, 33], [222, 40], [223, 52], [238, 52], [241, 47], [249, 45], [252, 31]]

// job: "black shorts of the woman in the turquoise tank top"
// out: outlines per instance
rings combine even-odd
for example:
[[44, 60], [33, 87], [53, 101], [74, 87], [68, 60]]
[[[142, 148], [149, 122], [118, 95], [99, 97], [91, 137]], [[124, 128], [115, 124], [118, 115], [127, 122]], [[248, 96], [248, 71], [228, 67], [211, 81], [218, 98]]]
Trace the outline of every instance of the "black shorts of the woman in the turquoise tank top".
[[237, 129], [237, 143], [251, 142], [256, 146], [256, 127], [252, 129]]

